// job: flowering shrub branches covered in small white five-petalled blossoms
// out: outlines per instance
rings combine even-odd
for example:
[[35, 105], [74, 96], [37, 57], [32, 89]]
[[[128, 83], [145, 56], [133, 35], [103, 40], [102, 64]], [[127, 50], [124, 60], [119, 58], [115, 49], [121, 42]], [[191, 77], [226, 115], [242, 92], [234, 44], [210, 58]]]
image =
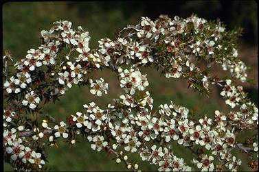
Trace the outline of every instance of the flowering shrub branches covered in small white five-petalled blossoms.
[[[247, 82], [247, 66], [238, 59], [236, 40], [240, 29], [227, 31], [220, 21], [206, 21], [195, 15], [187, 19], [161, 15], [129, 25], [115, 40], [99, 40], [98, 49], [89, 48], [89, 32], [71, 28], [69, 21], [57, 21], [41, 31], [43, 43], [30, 49], [8, 72], [3, 56], [3, 152], [4, 161], [17, 171], [41, 171], [46, 163], [43, 146], [64, 140], [74, 145], [85, 136], [96, 151], [113, 154], [126, 169], [141, 170], [131, 154], [156, 164], [159, 171], [237, 171], [242, 163], [233, 149], [247, 153], [252, 169], [258, 168], [258, 135], [238, 143], [241, 131], [258, 129], [258, 108], [235, 80]], [[205, 67], [201, 69], [198, 61]], [[221, 66], [231, 75], [218, 78], [210, 69]], [[153, 107], [146, 91], [146, 74], [140, 69], [153, 66], [166, 78], [183, 78], [188, 88], [210, 95], [213, 85], [221, 87], [221, 97], [231, 112], [214, 112], [197, 120], [196, 114], [175, 104]], [[73, 85], [86, 85], [101, 97], [109, 91], [104, 79], [89, 78], [93, 71], [109, 69], [117, 74], [123, 95], [105, 108], [87, 103], [83, 112], [67, 114], [66, 121], [44, 115], [41, 107], [56, 101]], [[176, 90], [177, 91], [177, 90]], [[42, 105], [42, 106], [40, 106]], [[32, 121], [29, 114], [45, 116]], [[174, 154], [175, 142], [192, 151], [186, 162]], [[203, 150], [203, 151], [201, 151]]]

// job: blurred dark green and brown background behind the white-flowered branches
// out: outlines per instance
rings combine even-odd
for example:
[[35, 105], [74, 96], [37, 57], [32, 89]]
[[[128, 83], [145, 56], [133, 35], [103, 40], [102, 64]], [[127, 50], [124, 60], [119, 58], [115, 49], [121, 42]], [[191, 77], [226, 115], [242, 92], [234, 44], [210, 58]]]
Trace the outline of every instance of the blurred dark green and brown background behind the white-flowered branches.
[[[49, 30], [54, 21], [68, 20], [76, 28], [81, 25], [91, 36], [90, 48], [98, 47], [100, 38], [114, 38], [115, 33], [126, 25], [135, 25], [141, 16], [148, 16], [155, 20], [159, 14], [168, 14], [188, 17], [192, 13], [205, 19], [221, 19], [227, 29], [235, 26], [243, 27], [244, 34], [239, 40], [240, 58], [249, 66], [249, 77], [256, 80], [256, 85], [242, 84], [251, 99], [258, 104], [258, 23], [257, 4], [255, 1], [89, 1], [89, 2], [23, 2], [5, 3], [3, 5], [3, 49], [9, 49], [14, 62], [24, 58], [27, 50], [36, 49], [40, 45], [41, 30]], [[143, 69], [148, 73], [147, 90], [154, 99], [154, 108], [161, 103], [180, 104], [195, 110], [200, 116], [213, 116], [214, 110], [229, 108], [218, 96], [219, 90], [214, 88], [210, 98], [187, 89], [187, 83], [181, 79], [166, 79], [154, 69]], [[109, 94], [101, 99], [93, 97], [88, 88], [73, 86], [56, 104], [50, 103], [43, 109], [51, 116], [65, 120], [69, 114], [83, 111], [82, 105], [95, 101], [101, 108], [117, 98], [122, 90], [117, 77], [109, 71], [93, 73], [94, 78], [103, 77], [109, 83]], [[199, 100], [199, 101], [198, 101]], [[253, 134], [255, 131], [249, 132]], [[246, 134], [247, 135], [247, 134]], [[244, 137], [240, 137], [242, 140]], [[46, 147], [49, 162], [45, 165], [51, 171], [122, 171], [122, 164], [116, 164], [105, 152], [93, 151], [86, 140], [80, 140], [75, 147], [60, 141], [59, 148]], [[190, 160], [190, 152], [179, 147], [176, 152], [179, 157]], [[243, 165], [240, 170], [251, 170], [245, 167], [247, 158], [242, 158]], [[139, 156], [132, 158], [139, 160]], [[157, 167], [142, 162], [139, 167], [143, 171], [157, 171]], [[12, 171], [8, 164], [4, 164], [5, 171]]]

